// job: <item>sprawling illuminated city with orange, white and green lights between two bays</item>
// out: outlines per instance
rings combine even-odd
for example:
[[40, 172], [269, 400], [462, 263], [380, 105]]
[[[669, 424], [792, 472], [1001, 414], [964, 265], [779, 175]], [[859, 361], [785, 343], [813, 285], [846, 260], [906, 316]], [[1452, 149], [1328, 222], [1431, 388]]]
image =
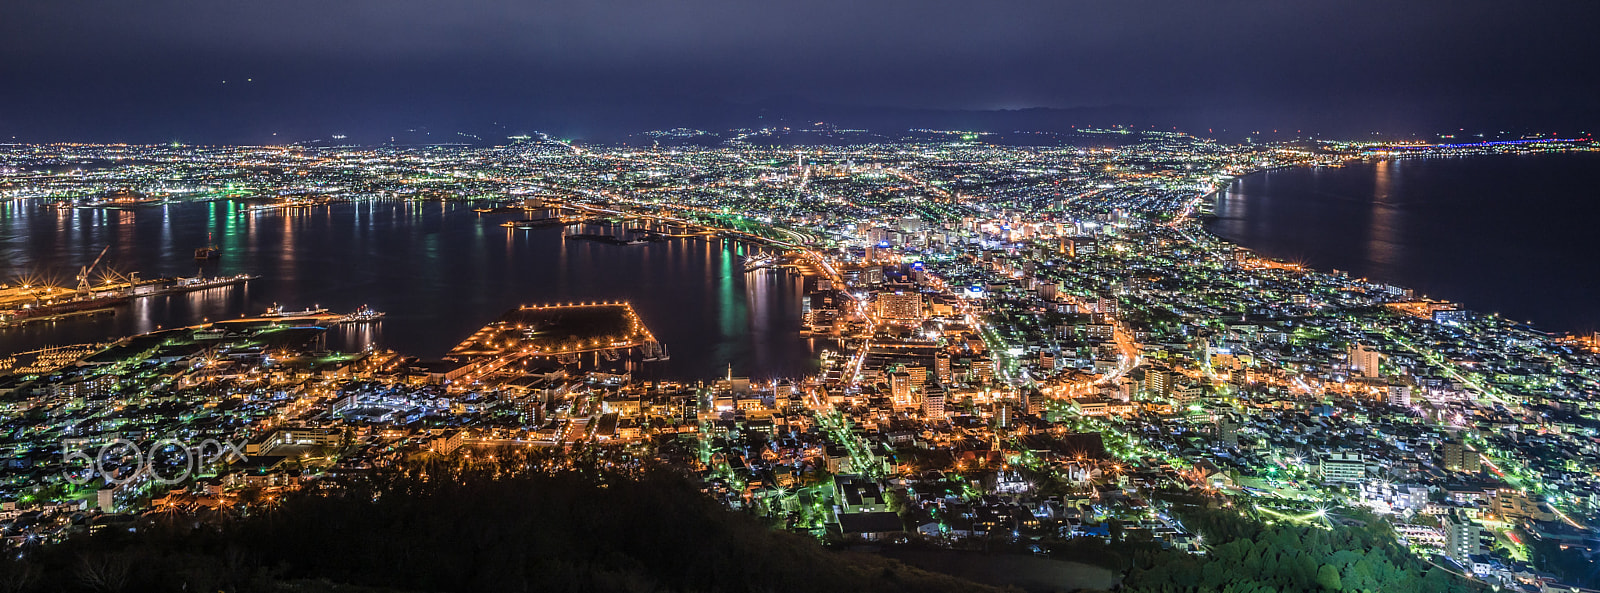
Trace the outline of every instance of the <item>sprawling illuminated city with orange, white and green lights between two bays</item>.
[[[819, 537], [1115, 529], [1205, 551], [1166, 508], [1214, 500], [1325, 526], [1360, 507], [1509, 588], [1552, 583], [1536, 543], [1600, 551], [1592, 339], [1262, 259], [1197, 221], [1235, 176], [1373, 147], [1128, 131], [770, 147], [763, 133], [651, 149], [8, 147], [0, 197], [62, 208], [128, 192], [240, 208], [538, 198], [763, 241], [746, 267], [802, 275], [805, 332], [840, 348], [810, 377], [635, 380], [664, 353], [629, 308], [562, 340], [536, 340], [523, 310], [443, 361], [318, 352], [317, 329], [285, 323], [5, 358], [6, 537], [419, 456], [598, 448]], [[1552, 147], [1472, 150], [1528, 149]], [[146, 454], [107, 449], [118, 440]], [[163, 443], [205, 440], [245, 444], [181, 486], [158, 480], [176, 464]]]

